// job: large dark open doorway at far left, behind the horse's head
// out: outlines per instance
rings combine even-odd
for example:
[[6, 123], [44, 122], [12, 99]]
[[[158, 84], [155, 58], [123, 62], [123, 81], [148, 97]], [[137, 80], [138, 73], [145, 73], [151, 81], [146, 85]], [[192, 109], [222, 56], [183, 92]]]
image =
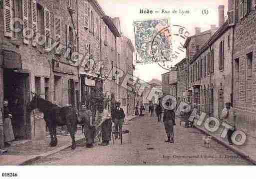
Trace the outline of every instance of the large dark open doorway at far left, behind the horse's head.
[[3, 94], [8, 100], [8, 107], [12, 113], [12, 128], [15, 139], [30, 137], [30, 118], [26, 114], [26, 104], [29, 100], [29, 75], [27, 73], [4, 70]]

